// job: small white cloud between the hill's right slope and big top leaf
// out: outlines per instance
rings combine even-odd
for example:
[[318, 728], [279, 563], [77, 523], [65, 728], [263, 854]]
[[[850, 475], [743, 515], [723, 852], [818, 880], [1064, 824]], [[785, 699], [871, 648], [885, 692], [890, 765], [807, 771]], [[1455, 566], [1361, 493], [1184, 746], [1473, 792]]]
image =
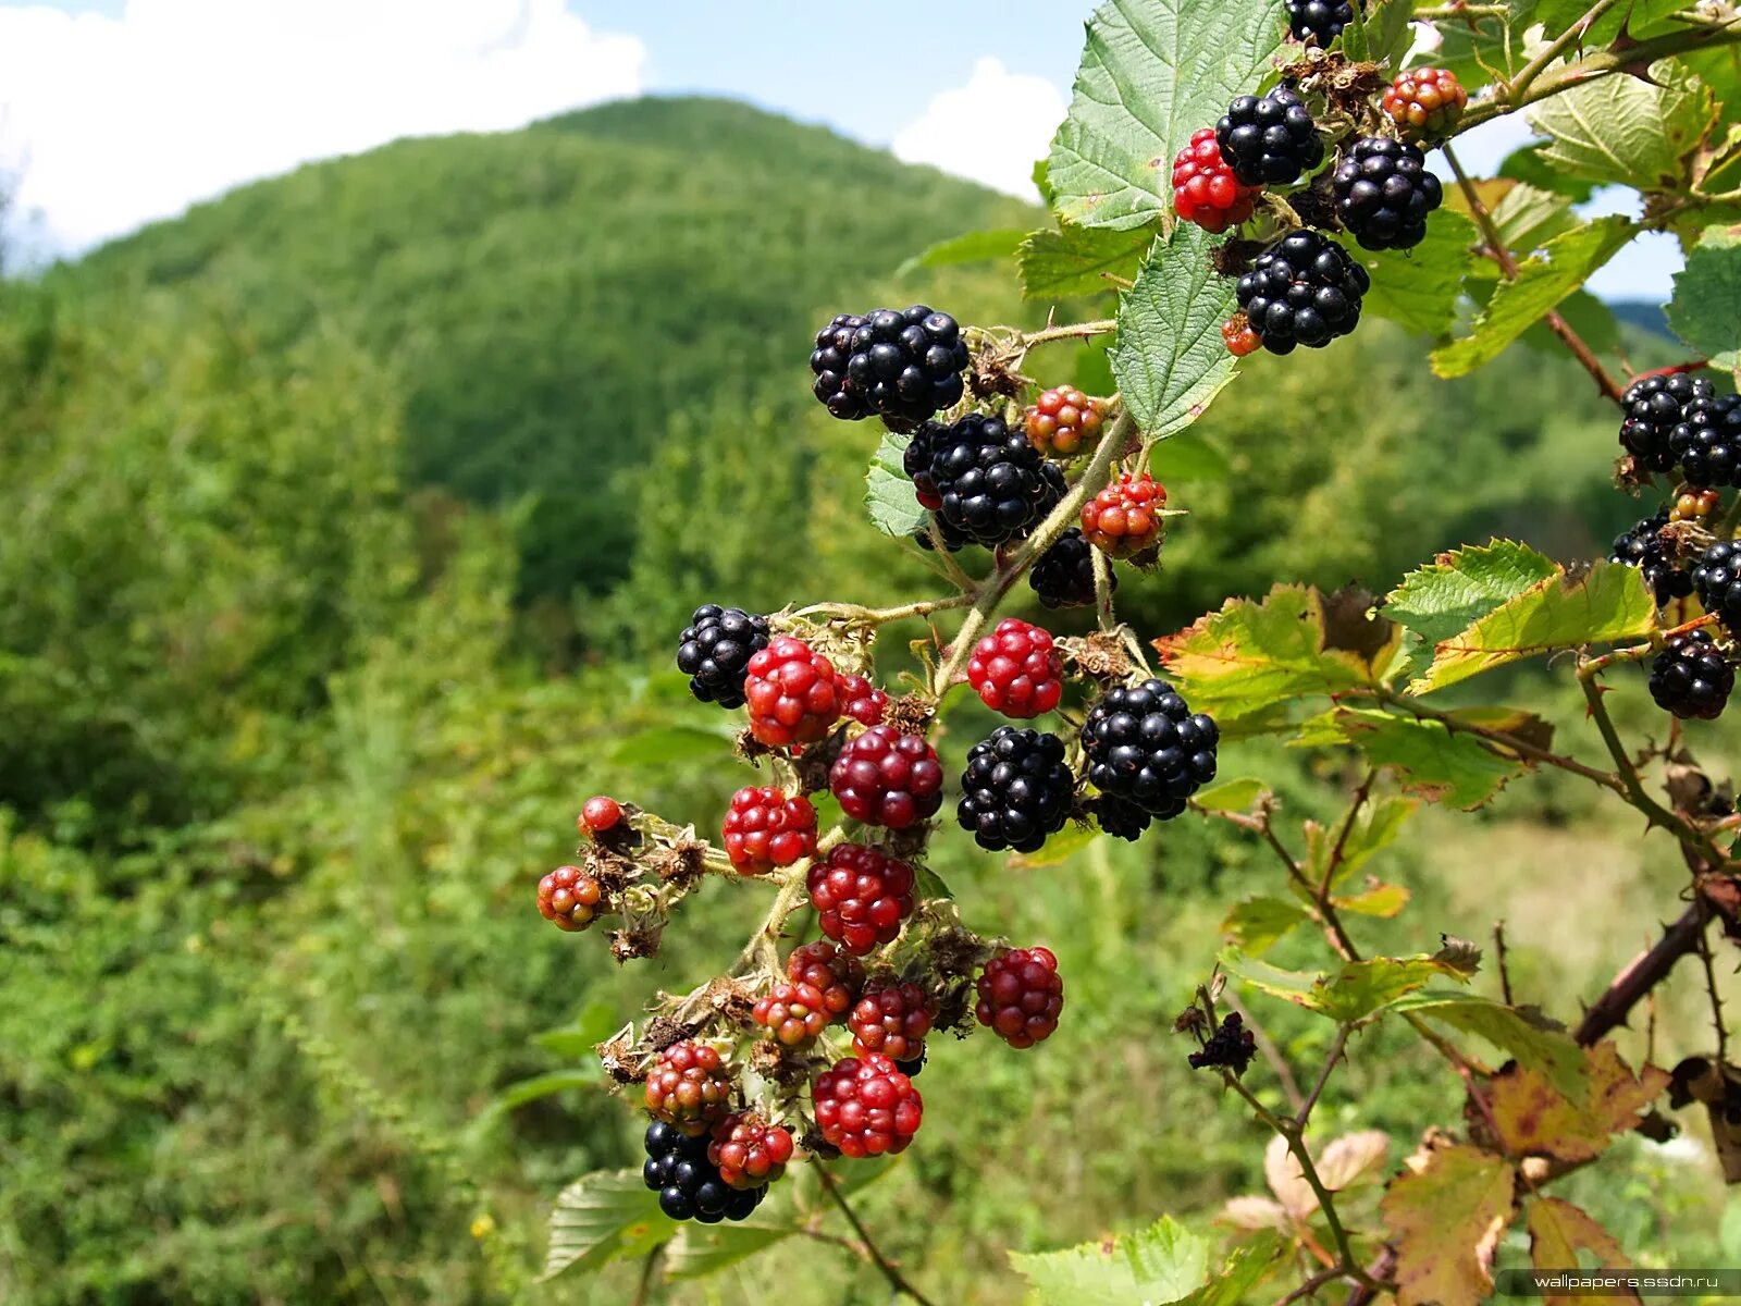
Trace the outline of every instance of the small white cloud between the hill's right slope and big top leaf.
[[1034, 160], [1045, 158], [1064, 111], [1064, 92], [1052, 82], [1012, 73], [987, 56], [973, 64], [966, 85], [933, 96], [891, 148], [909, 164], [933, 164], [1032, 200]]

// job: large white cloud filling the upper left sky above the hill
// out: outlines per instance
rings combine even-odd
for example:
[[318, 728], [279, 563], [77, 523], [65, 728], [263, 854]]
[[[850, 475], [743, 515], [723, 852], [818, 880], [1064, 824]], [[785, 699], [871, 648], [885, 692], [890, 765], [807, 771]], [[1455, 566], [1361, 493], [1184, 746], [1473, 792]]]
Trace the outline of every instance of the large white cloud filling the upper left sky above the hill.
[[19, 216], [82, 249], [312, 158], [634, 94], [644, 61], [564, 0], [0, 9], [0, 167]]

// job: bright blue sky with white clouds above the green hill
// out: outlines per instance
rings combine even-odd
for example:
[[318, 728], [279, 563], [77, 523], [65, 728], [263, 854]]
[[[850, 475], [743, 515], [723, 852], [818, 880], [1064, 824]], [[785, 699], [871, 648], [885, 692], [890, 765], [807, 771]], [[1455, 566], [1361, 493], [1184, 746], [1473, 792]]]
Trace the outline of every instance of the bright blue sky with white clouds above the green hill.
[[[26, 244], [54, 254], [395, 136], [698, 91], [1024, 193], [1069, 103], [1088, 12], [1074, 0], [0, 0], [0, 167]], [[1459, 153], [1490, 171], [1527, 131], [1476, 136]], [[1647, 237], [1593, 289], [1661, 300], [1678, 266], [1671, 239]]]

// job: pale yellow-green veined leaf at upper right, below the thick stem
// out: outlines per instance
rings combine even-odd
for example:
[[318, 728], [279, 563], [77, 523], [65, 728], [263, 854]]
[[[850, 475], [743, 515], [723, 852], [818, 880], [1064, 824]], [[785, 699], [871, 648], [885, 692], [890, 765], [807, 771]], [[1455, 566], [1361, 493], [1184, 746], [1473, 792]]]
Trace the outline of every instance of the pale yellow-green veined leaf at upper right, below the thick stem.
[[1673, 59], [1650, 77], [1598, 77], [1530, 108], [1530, 127], [1548, 138], [1543, 162], [1586, 181], [1684, 188], [1687, 155], [1715, 122], [1711, 92]]

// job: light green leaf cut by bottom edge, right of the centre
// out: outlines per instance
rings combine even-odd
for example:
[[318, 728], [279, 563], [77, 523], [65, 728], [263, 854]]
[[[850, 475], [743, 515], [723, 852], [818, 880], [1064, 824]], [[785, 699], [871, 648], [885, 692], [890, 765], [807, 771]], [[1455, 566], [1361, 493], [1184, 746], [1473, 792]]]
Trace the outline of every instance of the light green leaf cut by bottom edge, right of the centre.
[[1107, 1247], [1081, 1243], [1062, 1252], [1010, 1252], [1036, 1306], [1163, 1306], [1208, 1282], [1208, 1242], [1163, 1215], [1142, 1233]]

